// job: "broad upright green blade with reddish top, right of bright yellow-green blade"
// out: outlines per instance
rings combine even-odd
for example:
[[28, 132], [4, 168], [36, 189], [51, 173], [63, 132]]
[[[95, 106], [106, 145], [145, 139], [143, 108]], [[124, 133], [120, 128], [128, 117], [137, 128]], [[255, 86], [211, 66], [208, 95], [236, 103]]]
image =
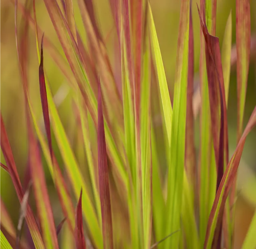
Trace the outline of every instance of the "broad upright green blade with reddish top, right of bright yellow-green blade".
[[[182, 0], [174, 82], [171, 164], [168, 166], [166, 234], [180, 230], [187, 112], [189, 9], [190, 1]], [[173, 235], [172, 239], [168, 239], [164, 243], [167, 248], [178, 248], [179, 241], [180, 233], [177, 233]]]

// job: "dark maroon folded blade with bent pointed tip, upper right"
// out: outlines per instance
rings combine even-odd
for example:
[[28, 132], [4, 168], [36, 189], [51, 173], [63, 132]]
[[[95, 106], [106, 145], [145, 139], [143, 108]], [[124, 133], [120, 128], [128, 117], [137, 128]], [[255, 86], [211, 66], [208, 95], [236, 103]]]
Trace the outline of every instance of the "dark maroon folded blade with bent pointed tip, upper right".
[[[198, 8], [198, 6], [197, 6]], [[199, 11], [199, 8], [198, 8]], [[206, 48], [206, 68], [208, 76], [208, 89], [211, 109], [212, 137], [215, 150], [215, 159], [217, 164], [217, 186], [221, 182], [224, 170], [224, 147], [226, 164], [228, 164], [228, 128], [227, 128], [227, 108], [224, 90], [224, 79], [221, 64], [221, 52], [219, 48], [219, 40], [215, 36], [208, 33], [206, 25], [202, 21], [199, 11], [202, 31], [204, 33]], [[213, 52], [214, 51], [214, 52]], [[219, 120], [220, 107], [220, 120]], [[217, 227], [214, 243], [221, 243], [221, 224]]]

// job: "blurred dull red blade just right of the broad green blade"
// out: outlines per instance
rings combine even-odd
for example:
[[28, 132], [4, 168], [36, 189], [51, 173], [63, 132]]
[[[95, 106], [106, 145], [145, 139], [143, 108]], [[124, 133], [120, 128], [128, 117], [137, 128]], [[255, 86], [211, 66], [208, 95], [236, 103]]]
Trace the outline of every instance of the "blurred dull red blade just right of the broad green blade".
[[188, 87], [187, 87], [187, 115], [186, 115], [186, 141], [185, 141], [185, 169], [192, 192], [196, 193], [196, 158], [194, 143], [194, 114], [193, 114], [193, 92], [194, 92], [194, 36], [190, 1], [189, 15], [189, 58], [188, 58]]

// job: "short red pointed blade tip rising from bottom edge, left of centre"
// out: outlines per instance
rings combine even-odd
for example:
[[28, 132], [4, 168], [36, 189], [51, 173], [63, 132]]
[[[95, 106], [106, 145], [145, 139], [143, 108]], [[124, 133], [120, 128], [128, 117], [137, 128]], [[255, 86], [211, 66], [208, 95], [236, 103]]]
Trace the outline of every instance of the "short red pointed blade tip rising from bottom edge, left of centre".
[[76, 227], [74, 233], [77, 249], [86, 249], [84, 240], [84, 229], [83, 229], [83, 216], [82, 216], [82, 189], [80, 197], [77, 203], [76, 210]]

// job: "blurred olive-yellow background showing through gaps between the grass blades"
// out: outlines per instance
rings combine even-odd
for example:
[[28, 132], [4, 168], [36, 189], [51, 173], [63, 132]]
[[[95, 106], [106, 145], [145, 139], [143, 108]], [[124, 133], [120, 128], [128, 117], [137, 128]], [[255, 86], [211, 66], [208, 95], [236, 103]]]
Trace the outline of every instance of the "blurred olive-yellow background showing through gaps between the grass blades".
[[[24, 115], [24, 95], [18, 69], [18, 60], [15, 44], [14, 30], [14, 0], [1, 0], [0, 12], [0, 105], [1, 113], [4, 118], [7, 134], [15, 157], [18, 173], [21, 180], [25, 177], [27, 167], [27, 133], [26, 120]], [[78, 24], [80, 34], [85, 36], [82, 19], [76, 0], [74, 2], [74, 15]], [[200, 54], [200, 26], [199, 17], [196, 9], [196, 2], [192, 1], [193, 7], [193, 29], [194, 29], [194, 54], [195, 54], [195, 86], [198, 83], [199, 74], [199, 54]], [[19, 0], [19, 3], [24, 3]], [[114, 31], [111, 9], [107, 0], [94, 0], [95, 14], [100, 27], [102, 36], [108, 50], [111, 63], [115, 60], [113, 52], [116, 33]], [[171, 98], [173, 95], [174, 71], [176, 63], [176, 49], [180, 14], [180, 0], [151, 0], [152, 12], [155, 20], [158, 40], [160, 43], [163, 64]], [[59, 4], [60, 1], [59, 1]], [[32, 8], [31, 8], [32, 10]], [[43, 0], [36, 0], [37, 22], [39, 27], [49, 37], [50, 41], [63, 54], [60, 42], [55, 34], [49, 15], [44, 6]], [[232, 11], [232, 45], [235, 46], [235, 0], [217, 0], [217, 30], [220, 44], [226, 22], [230, 11]], [[33, 11], [31, 12], [33, 15]], [[252, 110], [256, 105], [256, 1], [251, 1], [251, 61], [247, 86], [245, 117], [246, 125]], [[18, 10], [18, 30], [21, 23], [22, 13]], [[20, 30], [21, 31], [21, 30]], [[38, 62], [35, 47], [34, 30], [29, 28], [29, 91], [34, 109], [38, 118], [42, 117], [41, 102], [38, 81]], [[46, 51], [46, 50], [45, 50]], [[232, 50], [234, 59], [230, 75], [229, 99], [228, 99], [228, 132], [229, 132], [229, 155], [232, 156], [236, 147], [236, 63], [235, 49]], [[59, 68], [53, 62], [49, 53], [44, 53], [44, 66], [48, 75], [52, 92], [55, 94], [55, 100], [58, 105], [59, 114], [69, 141], [75, 151], [78, 161], [84, 162], [85, 155], [81, 150], [79, 131], [76, 129], [77, 120], [74, 115], [72, 98], [66, 78], [62, 75]], [[114, 70], [115, 71], [115, 70]], [[157, 114], [156, 114], [157, 118]], [[61, 156], [54, 143], [54, 151], [57, 160], [61, 166]], [[195, 143], [196, 149], [199, 149], [199, 118], [195, 120]], [[161, 150], [161, 144], [158, 148]], [[44, 160], [44, 159], [43, 159]], [[5, 163], [2, 151], [0, 152], [0, 162]], [[53, 207], [54, 216], [61, 220], [61, 208], [56, 197], [56, 190], [52, 184], [48, 167], [45, 164], [45, 175], [48, 183], [49, 195]], [[20, 204], [11, 182], [10, 176], [0, 168], [0, 195], [4, 201], [9, 213], [17, 225]], [[33, 201], [32, 201], [33, 206]], [[247, 227], [250, 224], [252, 214], [256, 208], [256, 129], [249, 134], [243, 151], [242, 160], [238, 171], [238, 199], [236, 202], [235, 218], [235, 247], [240, 248]]]

